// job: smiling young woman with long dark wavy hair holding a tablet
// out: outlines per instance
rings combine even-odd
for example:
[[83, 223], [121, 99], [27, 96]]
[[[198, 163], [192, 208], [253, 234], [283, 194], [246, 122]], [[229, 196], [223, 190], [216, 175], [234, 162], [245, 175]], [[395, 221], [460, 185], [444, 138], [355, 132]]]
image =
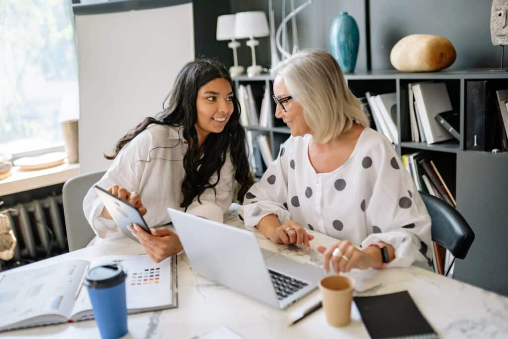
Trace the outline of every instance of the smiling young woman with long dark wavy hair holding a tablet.
[[[163, 109], [121, 138], [113, 155], [105, 155], [113, 163], [98, 186], [136, 206], [149, 227], [170, 221], [167, 207], [222, 222], [235, 180], [239, 201], [253, 183], [228, 72], [209, 59], [188, 63]], [[119, 233], [93, 189], [83, 209], [99, 238]], [[156, 262], [182, 250], [178, 235], [167, 228], [148, 234], [133, 225], [132, 232]]]

